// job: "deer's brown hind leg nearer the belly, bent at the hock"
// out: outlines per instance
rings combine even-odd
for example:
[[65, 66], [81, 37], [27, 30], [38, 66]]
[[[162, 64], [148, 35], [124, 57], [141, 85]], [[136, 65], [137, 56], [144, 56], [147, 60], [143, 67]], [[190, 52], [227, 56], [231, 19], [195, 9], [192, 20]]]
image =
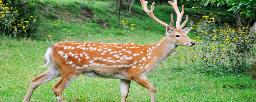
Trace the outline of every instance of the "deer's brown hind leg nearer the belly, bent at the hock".
[[62, 73], [62, 76], [60, 77], [60, 80], [52, 86], [52, 91], [56, 95], [56, 98], [58, 102], [64, 102], [62, 98], [62, 92], [63, 90], [71, 84], [71, 82], [78, 77], [79, 74], [73, 74], [73, 73]]

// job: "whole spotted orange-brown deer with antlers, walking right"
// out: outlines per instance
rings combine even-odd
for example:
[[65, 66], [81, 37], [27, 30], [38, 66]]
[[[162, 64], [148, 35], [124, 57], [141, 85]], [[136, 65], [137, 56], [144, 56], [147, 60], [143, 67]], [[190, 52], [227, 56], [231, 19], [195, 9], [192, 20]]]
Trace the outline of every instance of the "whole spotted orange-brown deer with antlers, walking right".
[[195, 41], [187, 36], [192, 27], [182, 29], [188, 22], [180, 25], [184, 6], [180, 12], [177, 0], [168, 1], [177, 14], [176, 28], [171, 23], [166, 24], [153, 14], [154, 4], [148, 10], [148, 2], [140, 0], [143, 10], [157, 23], [166, 27], [165, 37], [152, 45], [140, 45], [134, 43], [91, 43], [67, 41], [59, 42], [47, 48], [44, 55], [45, 67], [49, 68], [43, 74], [32, 79], [28, 92], [23, 102], [28, 102], [35, 89], [60, 77], [59, 81], [52, 86], [58, 102], [64, 102], [63, 90], [80, 74], [89, 77], [116, 78], [120, 79], [121, 101], [125, 102], [129, 93], [131, 81], [134, 81], [150, 91], [150, 101], [155, 102], [155, 86], [147, 79], [147, 75], [156, 68], [156, 65], [164, 61], [178, 46], [192, 47]]

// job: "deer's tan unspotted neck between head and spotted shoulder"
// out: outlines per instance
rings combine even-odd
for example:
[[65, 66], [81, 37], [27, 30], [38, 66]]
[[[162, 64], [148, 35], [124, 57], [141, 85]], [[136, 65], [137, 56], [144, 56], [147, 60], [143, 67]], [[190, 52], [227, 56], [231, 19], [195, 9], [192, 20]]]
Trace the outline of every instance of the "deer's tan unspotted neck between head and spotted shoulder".
[[149, 45], [148, 50], [151, 51], [152, 56], [155, 59], [156, 63], [160, 63], [164, 61], [166, 58], [168, 58], [176, 47], [178, 47], [178, 45], [175, 45], [165, 36], [156, 44]]

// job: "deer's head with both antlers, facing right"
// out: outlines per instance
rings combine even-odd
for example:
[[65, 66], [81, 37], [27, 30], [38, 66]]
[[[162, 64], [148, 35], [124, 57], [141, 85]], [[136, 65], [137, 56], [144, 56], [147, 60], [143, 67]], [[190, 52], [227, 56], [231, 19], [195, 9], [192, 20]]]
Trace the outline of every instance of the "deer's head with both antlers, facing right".
[[140, 0], [140, 2], [143, 7], [143, 10], [151, 18], [153, 18], [157, 23], [164, 25], [166, 27], [166, 32], [165, 32], [166, 38], [170, 42], [174, 43], [175, 45], [188, 46], [188, 47], [192, 47], [193, 45], [196, 44], [195, 41], [193, 41], [192, 39], [190, 39], [187, 36], [187, 33], [192, 29], [192, 27], [186, 27], [186, 28], [182, 29], [188, 22], [188, 15], [186, 16], [186, 20], [180, 25], [180, 21], [181, 21], [182, 15], [184, 13], [184, 6], [182, 6], [182, 11], [180, 12], [178, 9], [178, 6], [177, 6], [177, 0], [174, 0], [173, 3], [171, 1], [168, 1], [168, 3], [172, 5], [172, 7], [174, 8], [174, 11], [177, 14], [177, 21], [176, 21], [177, 29], [175, 29], [173, 26], [172, 14], [171, 14], [171, 24], [168, 25], [168, 24], [164, 23], [163, 21], [159, 20], [158, 18], [156, 18], [156, 16], [153, 14], [155, 2], [152, 3], [150, 10], [148, 10], [148, 7], [147, 7], [148, 2], [147, 1]]

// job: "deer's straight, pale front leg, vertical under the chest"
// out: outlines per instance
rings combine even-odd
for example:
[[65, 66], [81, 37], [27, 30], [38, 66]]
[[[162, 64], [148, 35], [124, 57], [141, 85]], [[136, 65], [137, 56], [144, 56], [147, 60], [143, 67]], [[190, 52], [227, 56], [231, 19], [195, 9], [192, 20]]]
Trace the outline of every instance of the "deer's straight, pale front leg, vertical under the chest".
[[131, 84], [131, 80], [120, 79], [122, 102], [126, 101], [126, 98], [129, 93], [130, 84]]

